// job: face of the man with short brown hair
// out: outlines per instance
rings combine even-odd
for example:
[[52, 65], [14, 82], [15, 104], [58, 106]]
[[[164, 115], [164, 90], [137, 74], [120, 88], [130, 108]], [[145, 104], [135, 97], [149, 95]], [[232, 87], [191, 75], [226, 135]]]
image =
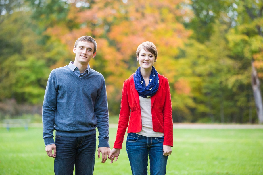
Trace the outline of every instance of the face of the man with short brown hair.
[[77, 44], [77, 47], [73, 49], [73, 52], [76, 54], [75, 62], [80, 64], [88, 64], [91, 58], [94, 58], [96, 52], [94, 51], [94, 44], [92, 42], [80, 41]]

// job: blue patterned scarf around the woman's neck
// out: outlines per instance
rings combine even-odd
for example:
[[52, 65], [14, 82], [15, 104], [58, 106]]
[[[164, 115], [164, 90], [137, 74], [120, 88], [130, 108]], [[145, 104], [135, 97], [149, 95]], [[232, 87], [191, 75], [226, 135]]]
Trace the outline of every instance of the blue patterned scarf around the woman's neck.
[[151, 68], [150, 80], [147, 87], [145, 87], [145, 81], [141, 75], [141, 67], [139, 67], [134, 73], [133, 80], [135, 89], [138, 91], [139, 96], [141, 97], [149, 98], [153, 96], [158, 90], [159, 77], [154, 67]]

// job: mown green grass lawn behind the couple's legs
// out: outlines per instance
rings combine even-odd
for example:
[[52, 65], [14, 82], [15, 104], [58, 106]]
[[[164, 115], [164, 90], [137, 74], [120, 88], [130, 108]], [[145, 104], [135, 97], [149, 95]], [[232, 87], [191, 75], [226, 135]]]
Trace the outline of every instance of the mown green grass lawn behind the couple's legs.
[[[113, 146], [115, 128], [110, 129]], [[174, 147], [166, 174], [263, 174], [262, 129], [174, 129]], [[0, 174], [54, 174], [45, 152], [42, 128], [0, 128]], [[149, 168], [148, 168], [149, 169]], [[94, 174], [131, 174], [125, 143], [117, 162], [101, 164]]]

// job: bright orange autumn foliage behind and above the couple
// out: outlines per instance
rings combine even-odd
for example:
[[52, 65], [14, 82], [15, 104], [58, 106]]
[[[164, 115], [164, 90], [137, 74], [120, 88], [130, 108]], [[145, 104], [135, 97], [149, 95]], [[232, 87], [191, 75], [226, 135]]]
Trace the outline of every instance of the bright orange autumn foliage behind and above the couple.
[[[79, 27], [69, 29], [65, 22], [64, 26], [60, 24], [48, 28], [46, 34], [59, 39], [69, 50], [73, 49], [74, 42], [80, 36], [95, 38], [98, 44], [96, 57], [102, 58], [99, 64], [103, 65], [103, 71], [107, 74], [107, 91], [115, 94], [115, 98], [121, 98], [123, 81], [136, 70], [136, 49], [144, 41], [152, 41], [156, 45], [157, 71], [174, 83], [174, 57], [178, 54], [178, 47], [183, 46], [191, 34], [177, 21], [180, 17], [183, 19], [180, 3], [184, 2], [134, 0], [122, 3], [95, 0], [86, 10], [70, 7], [68, 19]], [[184, 16], [187, 15], [184, 11]], [[90, 61], [91, 67], [97, 64], [96, 57]], [[58, 65], [60, 62], [54, 67]], [[191, 90], [189, 83], [183, 79], [174, 87], [178, 93], [189, 94]]]

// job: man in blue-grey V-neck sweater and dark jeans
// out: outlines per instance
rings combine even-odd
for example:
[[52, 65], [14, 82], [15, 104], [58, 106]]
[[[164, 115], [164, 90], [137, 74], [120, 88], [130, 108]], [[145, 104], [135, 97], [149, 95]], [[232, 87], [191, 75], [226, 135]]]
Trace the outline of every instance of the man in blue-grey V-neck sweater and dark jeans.
[[98, 158], [101, 153], [104, 163], [110, 154], [105, 80], [89, 66], [96, 48], [91, 36], [78, 38], [73, 49], [75, 61], [49, 75], [43, 102], [43, 139], [47, 155], [55, 158], [56, 175], [73, 174], [74, 165], [76, 174], [93, 174], [96, 127]]

